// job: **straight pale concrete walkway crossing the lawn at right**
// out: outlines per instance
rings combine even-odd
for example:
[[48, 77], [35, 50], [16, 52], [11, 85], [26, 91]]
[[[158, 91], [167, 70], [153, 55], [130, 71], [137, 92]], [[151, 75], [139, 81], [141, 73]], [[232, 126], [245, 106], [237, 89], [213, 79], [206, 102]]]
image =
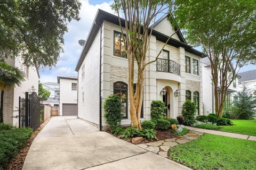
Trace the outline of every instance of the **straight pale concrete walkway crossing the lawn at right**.
[[253, 140], [256, 141], [256, 137], [252, 135], [247, 134], [238, 134], [238, 133], [230, 133], [230, 132], [222, 132], [222, 131], [214, 131], [214, 130], [208, 130], [208, 129], [200, 129], [200, 128], [194, 128], [190, 126], [185, 126], [185, 128], [196, 131], [196, 132], [202, 132], [202, 133], [210, 133], [210, 134], [216, 134], [221, 135], [225, 137], [231, 137], [231, 138], [238, 138], [238, 139], [245, 139], [245, 140]]

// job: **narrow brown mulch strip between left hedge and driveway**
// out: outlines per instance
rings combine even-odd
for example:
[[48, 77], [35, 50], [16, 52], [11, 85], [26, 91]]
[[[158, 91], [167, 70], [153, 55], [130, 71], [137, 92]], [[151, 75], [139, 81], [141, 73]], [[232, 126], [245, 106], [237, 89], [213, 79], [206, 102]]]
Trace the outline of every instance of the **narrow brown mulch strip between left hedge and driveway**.
[[44, 121], [40, 127], [31, 135], [31, 137], [28, 139], [26, 145], [20, 149], [19, 153], [15, 158], [13, 158], [10, 163], [4, 168], [4, 170], [21, 170], [23, 167], [23, 164], [25, 162], [25, 158], [28, 154], [28, 150], [31, 146], [31, 143], [36, 138], [36, 135], [44, 128], [44, 126], [51, 120], [51, 117], [48, 118], [46, 121]]

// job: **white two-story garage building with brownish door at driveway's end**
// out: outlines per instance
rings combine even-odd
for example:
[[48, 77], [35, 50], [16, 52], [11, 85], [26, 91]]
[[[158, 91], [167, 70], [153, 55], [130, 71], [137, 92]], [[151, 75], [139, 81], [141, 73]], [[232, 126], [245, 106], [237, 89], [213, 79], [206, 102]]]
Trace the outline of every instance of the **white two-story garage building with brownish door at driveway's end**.
[[60, 116], [77, 116], [77, 77], [57, 77], [60, 84]]

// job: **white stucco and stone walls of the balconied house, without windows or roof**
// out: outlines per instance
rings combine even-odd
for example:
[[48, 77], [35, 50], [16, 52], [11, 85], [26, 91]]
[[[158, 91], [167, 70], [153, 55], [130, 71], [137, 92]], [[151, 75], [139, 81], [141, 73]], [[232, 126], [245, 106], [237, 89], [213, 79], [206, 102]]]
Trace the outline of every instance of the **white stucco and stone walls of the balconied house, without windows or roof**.
[[[156, 25], [156, 30], [163, 33], [165, 36], [170, 36], [173, 33], [171, 23], [167, 18], [162, 19]], [[166, 29], [168, 28], [168, 29]], [[86, 54], [82, 52], [81, 58], [78, 61], [78, 117], [91, 122], [95, 126], [99, 126], [99, 65], [101, 57], [101, 97], [102, 104], [104, 99], [114, 93], [114, 84], [121, 82], [128, 83], [128, 61], [127, 58], [116, 56], [114, 53], [114, 33], [121, 32], [119, 25], [109, 21], [103, 21], [100, 29], [95, 34], [93, 42]], [[124, 30], [124, 29], [123, 29]], [[170, 31], [166, 31], [170, 30]], [[101, 33], [101, 36], [100, 36]], [[125, 33], [125, 32], [124, 32]], [[100, 42], [101, 37], [101, 42]], [[175, 41], [180, 41], [177, 34], [173, 36]], [[87, 39], [88, 41], [88, 39]], [[158, 37], [152, 35], [147, 51], [146, 62], [155, 60], [158, 53], [161, 53], [159, 58], [163, 58], [162, 50], [165, 42], [158, 40]], [[101, 44], [101, 46], [100, 46]], [[84, 46], [86, 48], [86, 45]], [[169, 53], [169, 60], [174, 62], [177, 70], [163, 72], [157, 71], [157, 62], [149, 64], [145, 69], [145, 81], [143, 89], [143, 116], [141, 120], [150, 120], [150, 106], [153, 100], [163, 100], [160, 95], [162, 89], [167, 92], [166, 105], [167, 117], [176, 118], [181, 114], [182, 105], [186, 100], [186, 90], [191, 91], [191, 100], [193, 100], [193, 92], [198, 92], [199, 95], [199, 114], [203, 114], [203, 94], [202, 94], [202, 57], [188, 52], [187, 47], [175, 47], [167, 44], [164, 47]], [[100, 50], [101, 49], [101, 56]], [[84, 50], [84, 49], [83, 49]], [[84, 56], [83, 56], [84, 55]], [[185, 56], [190, 57], [191, 72], [185, 72]], [[198, 75], [192, 73], [193, 58], [198, 61]], [[135, 61], [136, 62], [136, 61]], [[173, 69], [172, 67], [170, 67]], [[134, 83], [137, 80], [137, 64], [134, 64]], [[129, 89], [127, 89], [129, 90]], [[174, 96], [174, 91], [180, 92], [179, 97]], [[126, 95], [126, 98], [128, 96]], [[127, 117], [121, 121], [122, 125], [130, 125], [129, 100], [127, 101]], [[102, 127], [107, 124], [103, 118], [102, 112]]]

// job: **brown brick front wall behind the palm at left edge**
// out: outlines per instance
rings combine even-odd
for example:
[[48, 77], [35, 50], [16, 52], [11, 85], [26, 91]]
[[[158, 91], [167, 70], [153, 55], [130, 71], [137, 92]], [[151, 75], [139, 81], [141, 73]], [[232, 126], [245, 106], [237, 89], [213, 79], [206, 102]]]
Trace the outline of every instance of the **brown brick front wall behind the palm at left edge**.
[[[5, 60], [10, 65], [15, 65], [15, 61], [11, 58]], [[0, 91], [1, 99], [1, 91]], [[13, 101], [14, 101], [14, 88], [9, 88], [4, 91], [4, 123], [13, 124]]]

